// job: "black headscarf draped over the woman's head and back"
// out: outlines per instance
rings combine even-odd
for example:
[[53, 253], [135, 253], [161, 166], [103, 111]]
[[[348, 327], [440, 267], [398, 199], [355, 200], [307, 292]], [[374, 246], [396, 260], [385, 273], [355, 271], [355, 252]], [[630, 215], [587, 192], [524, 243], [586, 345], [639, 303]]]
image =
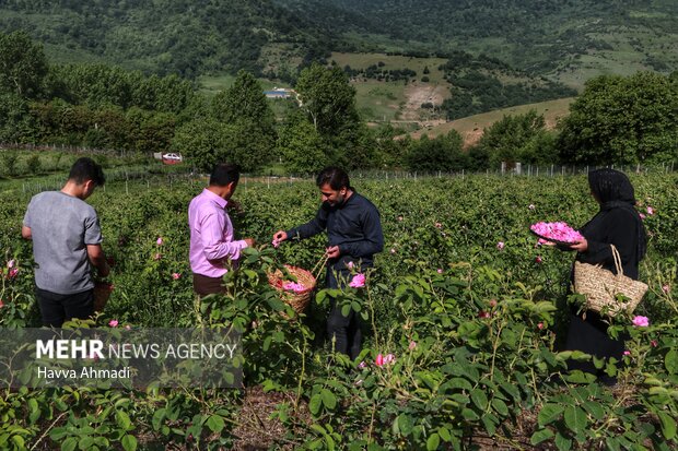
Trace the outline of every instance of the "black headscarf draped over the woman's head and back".
[[635, 210], [635, 194], [629, 177], [615, 169], [597, 169], [588, 173], [588, 186], [600, 204], [601, 213], [612, 209], [626, 209], [633, 212], [638, 221], [638, 259], [645, 257], [647, 251], [645, 226]]

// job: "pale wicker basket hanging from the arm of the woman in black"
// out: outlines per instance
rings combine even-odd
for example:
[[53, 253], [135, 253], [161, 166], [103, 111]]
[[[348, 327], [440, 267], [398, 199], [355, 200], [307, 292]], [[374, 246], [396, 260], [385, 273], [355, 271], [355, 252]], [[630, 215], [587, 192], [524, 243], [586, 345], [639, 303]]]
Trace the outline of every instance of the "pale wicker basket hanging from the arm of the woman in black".
[[[632, 313], [647, 292], [647, 285], [623, 275], [621, 258], [613, 245], [612, 256], [617, 274], [600, 265], [574, 262], [574, 290], [586, 296], [588, 310], [615, 317], [620, 311]], [[628, 300], [617, 300], [622, 295]]]

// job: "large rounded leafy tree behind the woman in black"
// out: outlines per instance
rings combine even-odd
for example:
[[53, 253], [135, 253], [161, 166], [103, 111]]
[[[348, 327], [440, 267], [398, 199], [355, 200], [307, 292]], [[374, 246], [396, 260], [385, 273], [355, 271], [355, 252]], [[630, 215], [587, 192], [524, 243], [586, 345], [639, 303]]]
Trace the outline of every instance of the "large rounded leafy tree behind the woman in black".
[[570, 106], [558, 141], [574, 164], [674, 161], [678, 154], [678, 83], [652, 72], [589, 80]]

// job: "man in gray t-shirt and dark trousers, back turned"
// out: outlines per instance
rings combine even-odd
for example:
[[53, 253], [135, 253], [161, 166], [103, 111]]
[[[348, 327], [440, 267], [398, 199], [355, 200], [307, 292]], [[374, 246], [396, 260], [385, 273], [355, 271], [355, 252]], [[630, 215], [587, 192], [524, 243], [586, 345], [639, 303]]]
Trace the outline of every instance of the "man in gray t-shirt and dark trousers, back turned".
[[31, 199], [21, 234], [33, 240], [36, 297], [43, 324], [59, 328], [72, 318], [94, 313], [94, 282], [109, 268], [102, 250], [102, 230], [94, 209], [84, 202], [105, 182], [102, 167], [79, 158], [61, 191], [47, 191]]

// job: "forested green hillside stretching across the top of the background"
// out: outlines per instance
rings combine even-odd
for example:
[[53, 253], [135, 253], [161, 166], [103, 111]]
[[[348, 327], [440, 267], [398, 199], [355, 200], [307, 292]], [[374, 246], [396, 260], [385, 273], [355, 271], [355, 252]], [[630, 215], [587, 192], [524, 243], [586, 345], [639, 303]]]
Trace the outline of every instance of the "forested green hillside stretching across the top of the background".
[[0, 2], [0, 31], [27, 31], [58, 62], [189, 78], [245, 69], [284, 80], [330, 51], [467, 51], [575, 85], [572, 71], [678, 69], [677, 22], [669, 0]]

